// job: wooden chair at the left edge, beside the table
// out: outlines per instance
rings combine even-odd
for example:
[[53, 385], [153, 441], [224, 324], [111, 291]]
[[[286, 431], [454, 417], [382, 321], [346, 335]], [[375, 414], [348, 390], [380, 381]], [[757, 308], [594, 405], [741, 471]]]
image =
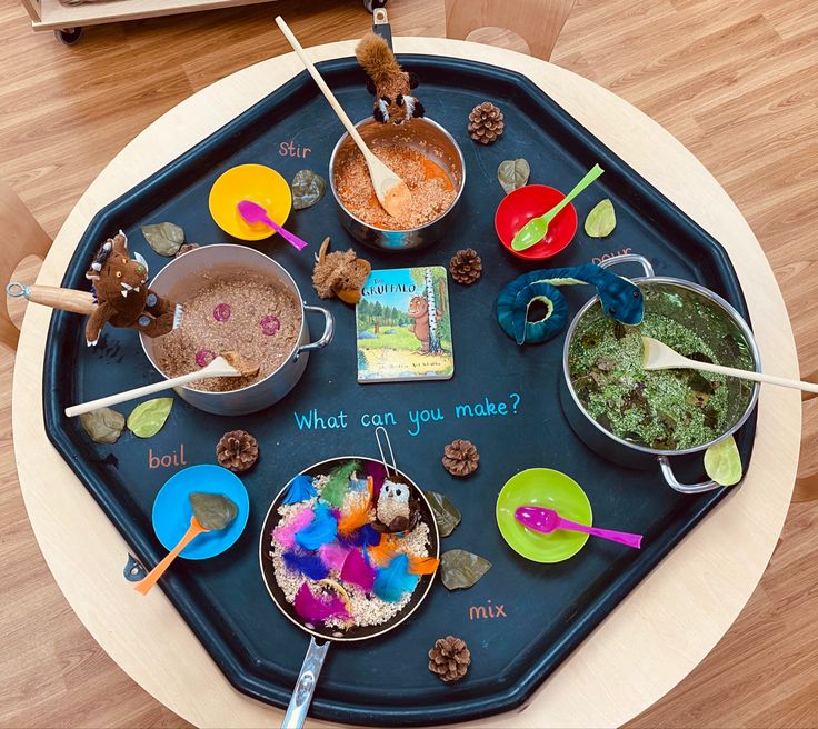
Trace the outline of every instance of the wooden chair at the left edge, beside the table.
[[[6, 286], [11, 280], [14, 270], [18, 270], [18, 279], [24, 283], [33, 282], [37, 270], [42, 264], [49, 248], [51, 238], [42, 229], [39, 222], [20, 200], [17, 193], [2, 180], [0, 180], [0, 220], [3, 221], [3, 244], [0, 247], [0, 281]], [[27, 261], [26, 267], [18, 267], [28, 257], [33, 256], [36, 260]], [[19, 313], [24, 307], [24, 299], [19, 303], [11, 299], [6, 300], [6, 306], [0, 307], [0, 343], [17, 349], [20, 331], [11, 317], [11, 307], [17, 303]], [[14, 317], [19, 319], [19, 317]]]

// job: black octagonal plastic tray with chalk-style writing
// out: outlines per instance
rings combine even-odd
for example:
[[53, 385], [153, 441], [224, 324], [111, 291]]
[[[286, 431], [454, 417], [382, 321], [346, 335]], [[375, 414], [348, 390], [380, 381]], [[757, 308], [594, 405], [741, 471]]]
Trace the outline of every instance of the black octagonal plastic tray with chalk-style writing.
[[[639, 471], [617, 468], [586, 448], [569, 429], [558, 401], [561, 338], [518, 348], [495, 318], [495, 300], [510, 279], [549, 262], [531, 264], [509, 256], [493, 231], [493, 212], [503, 192], [496, 179], [503, 159], [523, 157], [531, 182], [570, 189], [595, 162], [606, 173], [576, 202], [580, 231], [552, 267], [573, 266], [629, 249], [648, 257], [659, 276], [690, 279], [715, 290], [745, 317], [747, 309], [724, 249], [652, 189], [557, 103], [526, 78], [476, 62], [403, 56], [416, 71], [418, 97], [432, 119], [462, 148], [467, 183], [453, 232], [437, 246], [412, 253], [365, 250], [373, 268], [443, 264], [466, 247], [483, 259], [473, 286], [450, 282], [456, 375], [450, 381], [359, 386], [356, 381], [355, 317], [335, 300], [335, 341], [315, 352], [298, 387], [272, 408], [253, 416], [217, 417], [177, 398], [162, 431], [140, 440], [123, 433], [113, 446], [92, 443], [69, 405], [157, 380], [132, 331], [107, 328], [96, 349], [86, 348], [83, 319], [56, 312], [46, 354], [44, 409], [49, 438], [119, 528], [133, 553], [154, 565], [163, 549], [150, 520], [153, 498], [182, 462], [215, 462], [215, 446], [227, 430], [243, 428], [259, 440], [261, 460], [243, 477], [250, 519], [239, 541], [208, 561], [178, 560], [161, 586], [225, 676], [240, 691], [285, 706], [296, 682], [308, 636], [271, 602], [258, 565], [259, 529], [267, 509], [289, 478], [317, 461], [342, 455], [377, 456], [369, 413], [393, 413], [389, 427], [398, 465], [427, 489], [441, 491], [462, 511], [462, 523], [442, 542], [485, 556], [493, 567], [470, 590], [433, 586], [407, 623], [373, 640], [333, 646], [321, 673], [311, 712], [337, 722], [425, 725], [462, 721], [519, 707], [617, 603], [722, 498], [725, 490], [681, 496], [667, 487], [658, 466]], [[328, 83], [353, 119], [371, 113], [365, 77], [351, 58], [320, 64]], [[466, 132], [471, 108], [490, 100], [506, 114], [500, 140], [482, 147]], [[87, 289], [83, 273], [93, 250], [119, 228], [156, 273], [166, 262], [148, 247], [139, 228], [169, 220], [188, 240], [226, 242], [208, 214], [216, 178], [229, 167], [260, 162], [289, 180], [305, 167], [327, 173], [332, 146], [342, 133], [315, 83], [301, 73], [193, 147], [161, 171], [101, 210], [79, 242], [63, 286]], [[301, 150], [299, 152], [299, 149]], [[309, 149], [305, 158], [305, 149]], [[299, 156], [300, 154], [300, 156]], [[581, 221], [603, 197], [614, 200], [618, 226], [612, 236], [590, 240]], [[336, 216], [331, 193], [316, 207], [295, 211], [287, 227], [312, 244], [302, 254], [272, 240], [255, 244], [293, 276], [308, 303], [311, 252], [325, 236], [333, 249], [350, 244]], [[232, 241], [236, 242], [236, 241]], [[624, 267], [624, 274], [640, 274]], [[593, 294], [590, 287], [562, 289], [573, 311]], [[319, 321], [312, 323], [313, 338]], [[517, 402], [516, 415], [513, 403]], [[459, 403], [506, 402], [509, 415], [456, 418]], [[128, 413], [134, 403], [120, 406]], [[327, 419], [346, 413], [346, 428], [299, 430], [293, 412], [317, 409]], [[410, 411], [429, 410], [420, 433]], [[755, 418], [738, 433], [749, 463]], [[477, 473], [468, 480], [442, 469], [443, 446], [468, 438], [480, 449]], [[685, 479], [704, 478], [701, 456], [676, 459]], [[565, 471], [586, 489], [595, 520], [645, 535], [641, 551], [590, 540], [575, 558], [536, 565], [509, 549], [495, 526], [495, 500], [502, 485], [530, 467]], [[150, 599], [150, 598], [149, 598]], [[463, 638], [471, 650], [468, 677], [443, 685], [427, 670], [427, 650], [446, 635]]]

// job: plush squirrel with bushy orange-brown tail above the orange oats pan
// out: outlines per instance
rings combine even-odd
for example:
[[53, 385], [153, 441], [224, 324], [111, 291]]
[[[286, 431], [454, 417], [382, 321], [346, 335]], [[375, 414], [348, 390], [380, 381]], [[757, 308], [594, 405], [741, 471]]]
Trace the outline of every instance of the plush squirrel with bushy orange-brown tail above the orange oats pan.
[[355, 56], [369, 77], [367, 89], [376, 96], [372, 116], [377, 121], [402, 124], [426, 113], [423, 104], [411, 96], [418, 77], [400, 68], [386, 40], [367, 33], [356, 47]]

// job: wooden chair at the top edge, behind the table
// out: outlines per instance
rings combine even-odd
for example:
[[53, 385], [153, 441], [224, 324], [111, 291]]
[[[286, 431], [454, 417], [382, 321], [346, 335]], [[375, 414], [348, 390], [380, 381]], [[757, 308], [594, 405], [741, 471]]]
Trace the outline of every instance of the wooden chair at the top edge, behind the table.
[[[446, 37], [467, 40], [480, 28], [517, 33], [547, 61], [576, 0], [446, 0]], [[485, 42], [486, 39], [481, 39]]]

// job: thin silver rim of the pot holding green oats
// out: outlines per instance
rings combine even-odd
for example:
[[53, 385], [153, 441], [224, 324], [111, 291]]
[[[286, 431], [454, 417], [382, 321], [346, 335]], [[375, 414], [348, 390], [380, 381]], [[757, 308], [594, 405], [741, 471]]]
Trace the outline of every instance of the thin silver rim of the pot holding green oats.
[[[756, 367], [756, 372], [761, 371], [761, 354], [758, 351], [758, 344], [756, 342], [756, 338], [752, 334], [752, 331], [750, 330], [750, 327], [745, 321], [744, 317], [736, 311], [736, 308], [726, 299], [720, 297], [715, 291], [711, 291], [710, 289], [701, 286], [700, 283], [695, 283], [694, 281], [686, 281], [685, 279], [677, 279], [672, 277], [664, 277], [664, 276], [642, 276], [639, 278], [632, 278], [628, 279], [629, 281], [632, 281], [634, 283], [669, 283], [671, 286], [678, 286], [684, 289], [689, 289], [691, 291], [695, 291], [696, 293], [699, 293], [715, 303], [719, 304], [721, 309], [727, 313], [736, 323], [736, 326], [741, 330], [741, 333], [745, 336], [745, 339], [750, 348], [750, 353], [752, 354], [752, 361]], [[573, 317], [573, 320], [571, 321], [571, 326], [568, 328], [568, 333], [566, 334], [565, 342], [562, 344], [562, 379], [568, 387], [568, 392], [571, 396], [571, 399], [573, 400], [575, 405], [579, 408], [579, 411], [585, 416], [585, 418], [602, 435], [607, 436], [611, 440], [614, 440], [617, 443], [620, 443], [621, 446], [626, 446], [627, 448], [631, 448], [634, 450], [640, 451], [642, 453], [648, 453], [650, 456], [686, 456], [688, 453], [697, 453], [702, 450], [707, 450], [710, 446], [714, 446], [729, 436], [732, 436], [741, 426], [747, 422], [747, 419], [750, 417], [750, 413], [756, 408], [756, 405], [758, 403], [758, 395], [760, 390], [760, 383], [755, 382], [752, 387], [752, 395], [750, 396], [750, 401], [747, 403], [747, 408], [745, 409], [741, 417], [724, 433], [721, 433], [718, 438], [714, 438], [711, 441], [707, 443], [702, 443], [701, 446], [695, 446], [692, 448], [685, 448], [681, 450], [661, 450], [658, 448], [649, 448], [647, 446], [640, 446], [638, 443], [632, 443], [628, 440], [624, 440], [619, 438], [618, 436], [615, 436], [612, 432], [603, 428], [599, 422], [597, 422], [590, 413], [585, 409], [585, 406], [579, 401], [579, 398], [577, 397], [576, 391], [573, 390], [573, 386], [571, 385], [571, 378], [569, 376], [569, 369], [568, 369], [568, 348], [571, 342], [571, 339], [573, 337], [573, 332], [577, 329], [577, 326], [579, 324], [580, 319], [585, 314], [588, 309], [590, 309], [597, 301], [599, 300], [599, 296], [595, 296], [593, 298], [589, 299], [585, 304], [582, 304], [581, 309], [577, 312], [577, 314]]]

